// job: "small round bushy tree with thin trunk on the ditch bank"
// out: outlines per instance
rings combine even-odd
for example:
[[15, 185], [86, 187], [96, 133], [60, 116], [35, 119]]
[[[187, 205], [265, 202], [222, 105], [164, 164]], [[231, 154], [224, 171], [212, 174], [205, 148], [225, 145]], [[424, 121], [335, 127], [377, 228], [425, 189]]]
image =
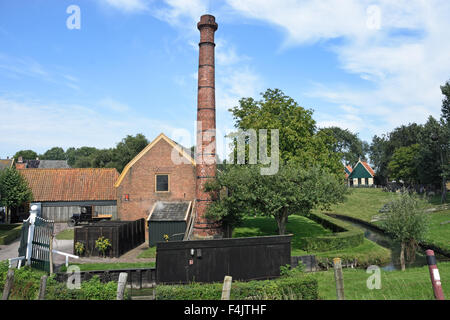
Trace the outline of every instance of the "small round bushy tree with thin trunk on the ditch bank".
[[428, 216], [419, 201], [408, 193], [389, 204], [389, 210], [381, 216], [381, 227], [400, 243], [400, 264], [406, 269], [406, 260], [413, 261], [418, 242], [422, 241], [428, 229]]

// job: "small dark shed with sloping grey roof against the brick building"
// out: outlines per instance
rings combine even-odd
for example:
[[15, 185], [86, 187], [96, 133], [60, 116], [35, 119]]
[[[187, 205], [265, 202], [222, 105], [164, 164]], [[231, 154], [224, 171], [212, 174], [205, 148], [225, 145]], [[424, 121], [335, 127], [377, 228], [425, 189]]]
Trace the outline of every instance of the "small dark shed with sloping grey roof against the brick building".
[[183, 240], [191, 208], [192, 201], [157, 201], [147, 218], [149, 246]]

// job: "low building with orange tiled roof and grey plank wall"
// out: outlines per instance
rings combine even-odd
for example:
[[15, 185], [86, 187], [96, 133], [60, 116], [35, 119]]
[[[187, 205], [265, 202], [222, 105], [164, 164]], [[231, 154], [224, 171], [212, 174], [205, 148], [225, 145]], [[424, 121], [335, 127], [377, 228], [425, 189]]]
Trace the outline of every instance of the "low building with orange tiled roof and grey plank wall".
[[[117, 218], [114, 183], [119, 173], [115, 168], [18, 170], [31, 188], [32, 204], [40, 207], [44, 219], [67, 222], [74, 213], [80, 213], [81, 206], [91, 207], [93, 214]], [[28, 210], [17, 212], [15, 220], [26, 219]]]

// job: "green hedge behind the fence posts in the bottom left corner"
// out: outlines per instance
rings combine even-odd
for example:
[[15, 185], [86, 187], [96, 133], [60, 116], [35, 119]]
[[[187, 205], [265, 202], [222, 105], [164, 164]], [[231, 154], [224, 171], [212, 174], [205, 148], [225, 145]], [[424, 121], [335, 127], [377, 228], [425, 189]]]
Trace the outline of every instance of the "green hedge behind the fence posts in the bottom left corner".
[[[8, 262], [0, 262], [0, 292], [5, 286]], [[23, 267], [14, 269], [14, 285], [11, 289], [10, 300], [34, 300], [39, 293], [43, 271]], [[115, 300], [117, 295], [117, 282], [101, 283], [98, 276], [89, 281], [81, 282], [80, 289], [68, 289], [65, 282], [58, 282], [53, 276], [47, 280], [46, 300]], [[128, 293], [125, 291], [125, 299]]]

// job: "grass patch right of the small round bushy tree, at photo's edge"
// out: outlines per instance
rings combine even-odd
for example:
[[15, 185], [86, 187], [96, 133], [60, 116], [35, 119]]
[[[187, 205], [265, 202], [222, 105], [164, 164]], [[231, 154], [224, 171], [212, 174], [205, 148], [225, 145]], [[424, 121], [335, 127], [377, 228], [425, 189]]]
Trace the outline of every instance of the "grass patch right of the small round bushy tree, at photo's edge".
[[430, 214], [430, 226], [427, 234], [427, 242], [450, 251], [450, 210]]

